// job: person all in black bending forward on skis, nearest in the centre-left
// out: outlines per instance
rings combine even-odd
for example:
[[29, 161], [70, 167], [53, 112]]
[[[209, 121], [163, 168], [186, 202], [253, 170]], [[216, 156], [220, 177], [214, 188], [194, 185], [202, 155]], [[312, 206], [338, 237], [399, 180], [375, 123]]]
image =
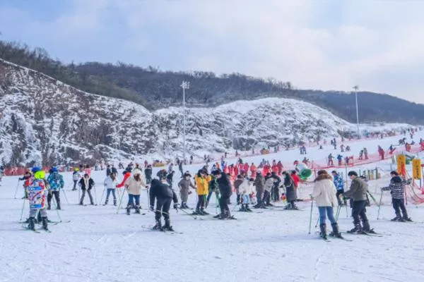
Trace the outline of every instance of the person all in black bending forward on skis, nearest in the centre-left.
[[[156, 200], [156, 209], [154, 209]], [[150, 209], [155, 212], [156, 225], [153, 226], [153, 230], [159, 231], [174, 231], [171, 226], [170, 220], [170, 207], [171, 201], [174, 201], [174, 209], [178, 209], [178, 198], [174, 190], [167, 185], [166, 176], [158, 179], [153, 179], [150, 188]], [[160, 220], [163, 216], [165, 219], [165, 226], [162, 226]]]

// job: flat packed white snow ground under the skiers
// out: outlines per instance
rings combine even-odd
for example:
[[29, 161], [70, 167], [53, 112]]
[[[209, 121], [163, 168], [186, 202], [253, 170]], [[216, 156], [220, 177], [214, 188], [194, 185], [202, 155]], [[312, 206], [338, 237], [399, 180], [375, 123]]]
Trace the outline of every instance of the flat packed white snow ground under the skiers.
[[[418, 134], [417, 138], [423, 133]], [[399, 137], [379, 140], [382, 147], [396, 143]], [[417, 140], [416, 140], [417, 141]], [[375, 146], [375, 149], [371, 148]], [[377, 150], [377, 141], [351, 143], [353, 150], [369, 147]], [[311, 148], [311, 160], [326, 157], [330, 149]], [[332, 150], [334, 152], [334, 149]], [[265, 159], [293, 159], [297, 151], [263, 156]], [[357, 154], [355, 152], [355, 154]], [[246, 158], [260, 161], [262, 156]], [[360, 169], [375, 168], [376, 164]], [[377, 164], [389, 171], [388, 161]], [[194, 173], [199, 165], [187, 166]], [[359, 168], [358, 168], [359, 169]], [[158, 168], [155, 168], [155, 175]], [[178, 173], [177, 173], [178, 176]], [[97, 183], [98, 206], [78, 205], [78, 191], [71, 191], [71, 173], [64, 173], [65, 190], [61, 192], [63, 221], [50, 226], [52, 233], [25, 231], [18, 223], [23, 207], [23, 189], [19, 183], [18, 199], [13, 199], [17, 177], [5, 177], [0, 183], [0, 281], [422, 281], [424, 259], [421, 238], [424, 235], [424, 207], [407, 206], [415, 223], [394, 223], [389, 196], [377, 221], [377, 206], [367, 209], [372, 228], [384, 237], [345, 235], [353, 242], [319, 239], [314, 228], [318, 212], [312, 212], [312, 233], [308, 235], [310, 202], [299, 202], [302, 211], [266, 209], [263, 213], [235, 212], [237, 221], [219, 221], [204, 217], [193, 219], [175, 210], [172, 226], [183, 234], [150, 231], [153, 213], [148, 212], [146, 193], [141, 195], [145, 215], [127, 216], [124, 209], [112, 204], [102, 206], [102, 181], [105, 171], [93, 171]], [[378, 200], [379, 190], [389, 178], [370, 182]], [[176, 177], [175, 182], [179, 180]], [[312, 185], [302, 185], [300, 197], [307, 199]], [[93, 191], [94, 192], [94, 191]], [[377, 193], [377, 194], [376, 194]], [[66, 202], [66, 197], [69, 204]], [[93, 193], [94, 194], [94, 193]], [[104, 197], [103, 197], [104, 199]], [[111, 200], [111, 199], [110, 199]], [[195, 205], [195, 193], [189, 206]], [[111, 201], [110, 201], [111, 202]], [[124, 197], [126, 202], [126, 197]], [[235, 195], [232, 203], [235, 202]], [[86, 203], [88, 198], [86, 197]], [[283, 205], [283, 203], [277, 203]], [[25, 202], [23, 219], [28, 216]], [[234, 204], [231, 205], [231, 208]], [[262, 211], [262, 210], [261, 210]], [[215, 200], [208, 212], [217, 211]], [[341, 210], [341, 231], [352, 227], [351, 209]], [[346, 215], [348, 218], [346, 218]], [[58, 220], [55, 210], [49, 219]], [[330, 227], [327, 227], [330, 229]]]

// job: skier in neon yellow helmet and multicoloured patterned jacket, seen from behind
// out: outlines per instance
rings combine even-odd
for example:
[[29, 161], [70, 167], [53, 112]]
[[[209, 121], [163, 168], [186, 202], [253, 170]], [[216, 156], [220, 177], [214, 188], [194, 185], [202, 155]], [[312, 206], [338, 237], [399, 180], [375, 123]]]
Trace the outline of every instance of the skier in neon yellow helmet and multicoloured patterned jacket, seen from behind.
[[41, 214], [42, 228], [45, 231], [48, 231], [47, 207], [45, 204], [48, 183], [45, 180], [45, 171], [42, 171], [40, 167], [35, 166], [32, 172], [34, 173], [34, 177], [30, 180], [30, 184], [28, 185], [28, 199], [30, 202], [28, 229], [35, 231], [35, 216], [37, 216], [37, 214]]

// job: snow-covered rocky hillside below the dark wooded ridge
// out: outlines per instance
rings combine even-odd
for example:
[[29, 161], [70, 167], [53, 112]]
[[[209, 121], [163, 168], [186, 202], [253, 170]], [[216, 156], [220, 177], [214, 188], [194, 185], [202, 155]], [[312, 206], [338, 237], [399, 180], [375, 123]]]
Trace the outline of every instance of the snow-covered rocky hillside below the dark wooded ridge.
[[[0, 162], [64, 164], [95, 159], [182, 156], [183, 111], [76, 90], [47, 75], [0, 60]], [[399, 130], [406, 124], [361, 125]], [[187, 154], [260, 149], [355, 133], [318, 106], [294, 99], [237, 101], [187, 109]]]

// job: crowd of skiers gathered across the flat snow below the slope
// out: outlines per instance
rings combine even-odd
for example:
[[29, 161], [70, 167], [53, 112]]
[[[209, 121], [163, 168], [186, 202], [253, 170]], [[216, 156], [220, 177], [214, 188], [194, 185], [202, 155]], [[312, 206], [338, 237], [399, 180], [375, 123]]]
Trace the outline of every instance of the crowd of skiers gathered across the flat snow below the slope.
[[[226, 165], [225, 159], [211, 166], [205, 165], [194, 176], [189, 171], [183, 171], [182, 163], [177, 161], [177, 167], [181, 173], [181, 178], [177, 185], [174, 185], [175, 171], [174, 165], [170, 164], [167, 169], [161, 169], [152, 175], [151, 164], [142, 167], [139, 164], [129, 164], [122, 171], [122, 181], [118, 181], [118, 170], [113, 165], [108, 165], [103, 180], [105, 202], [109, 203], [112, 195], [113, 205], [117, 206], [123, 202], [124, 192], [128, 196], [126, 203], [126, 214], [141, 213], [140, 197], [141, 192], [146, 190], [148, 204], [151, 212], [155, 214], [154, 230], [173, 231], [170, 221], [170, 207], [179, 209], [192, 216], [208, 216], [207, 208], [211, 198], [216, 198], [216, 203], [220, 209], [216, 219], [235, 219], [230, 210], [230, 198], [233, 193], [237, 195], [235, 207], [240, 207], [239, 212], [252, 212], [252, 209], [273, 208], [276, 202], [285, 202], [284, 209], [298, 209], [298, 189], [302, 182], [296, 170], [284, 170], [281, 161], [273, 160], [271, 164], [264, 159], [258, 165], [243, 163], [242, 159], [237, 164]], [[222, 165], [222, 166], [221, 166]], [[317, 171], [317, 176], [313, 181], [314, 188], [310, 195], [319, 209], [320, 235], [326, 240], [326, 218], [328, 217], [332, 231], [329, 235], [336, 238], [343, 238], [338, 230], [338, 224], [334, 216], [338, 206], [347, 204], [350, 200], [352, 208], [353, 228], [351, 233], [373, 233], [370, 223], [367, 220], [366, 207], [369, 203], [367, 197], [367, 182], [363, 177], [358, 176], [355, 171], [350, 171], [348, 177], [351, 185], [346, 190], [345, 181], [336, 171], [328, 173], [325, 170]], [[60, 191], [64, 188], [64, 178], [56, 167], [49, 170], [46, 177], [45, 171], [40, 167], [33, 167], [25, 173], [19, 180], [23, 181], [25, 195], [24, 199], [30, 200], [30, 214], [27, 219], [28, 228], [35, 231], [35, 223], [42, 223], [42, 228], [48, 231], [47, 210], [54, 207], [61, 209]], [[86, 194], [90, 199], [90, 204], [97, 204], [93, 199], [92, 190], [95, 188], [95, 181], [91, 178], [90, 166], [79, 166], [73, 168], [72, 190], [81, 190], [79, 204], [84, 204]], [[408, 184], [396, 171], [391, 172], [391, 181], [384, 190], [391, 190], [393, 207], [396, 216], [393, 221], [411, 221], [408, 218], [404, 205], [405, 187]], [[78, 188], [77, 188], [78, 186]], [[119, 188], [122, 188], [119, 192]], [[116, 191], [118, 192], [116, 193]], [[175, 190], [177, 189], [177, 192]], [[196, 192], [196, 207], [191, 211], [187, 202], [189, 196]], [[119, 197], [120, 195], [120, 197]], [[118, 197], [117, 197], [118, 196]], [[179, 199], [179, 200], [178, 200]], [[100, 200], [102, 202], [102, 200]], [[273, 204], [274, 203], [274, 204]], [[190, 210], [187, 212], [187, 210]], [[311, 207], [312, 213], [312, 207]], [[162, 217], [165, 224], [162, 223]]]

